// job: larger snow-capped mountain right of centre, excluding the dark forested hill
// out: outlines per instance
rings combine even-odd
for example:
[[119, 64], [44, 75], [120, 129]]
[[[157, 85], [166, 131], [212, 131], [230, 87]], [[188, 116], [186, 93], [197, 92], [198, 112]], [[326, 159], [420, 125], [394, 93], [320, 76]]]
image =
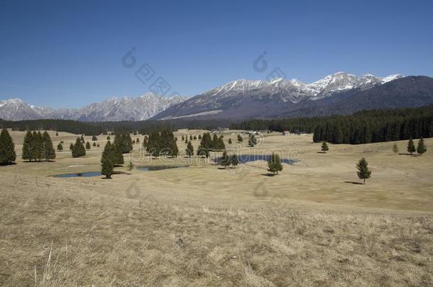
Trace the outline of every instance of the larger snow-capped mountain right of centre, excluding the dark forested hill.
[[342, 91], [366, 90], [402, 77], [400, 74], [384, 78], [372, 74], [357, 77], [339, 72], [311, 84], [305, 84], [297, 79], [271, 81], [241, 79], [193, 96], [158, 113], [152, 119], [272, 118], [290, 111], [304, 101], [327, 99]]

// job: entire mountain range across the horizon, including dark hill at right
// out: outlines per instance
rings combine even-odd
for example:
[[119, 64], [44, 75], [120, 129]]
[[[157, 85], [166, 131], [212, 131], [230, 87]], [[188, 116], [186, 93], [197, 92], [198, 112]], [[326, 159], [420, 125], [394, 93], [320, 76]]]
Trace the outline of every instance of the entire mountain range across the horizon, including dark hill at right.
[[81, 121], [280, 118], [350, 114], [363, 109], [433, 104], [433, 79], [400, 74], [375, 77], [346, 72], [305, 84], [297, 79], [239, 79], [193, 96], [166, 98], [152, 93], [111, 98], [83, 108], [31, 106], [20, 99], [0, 101], [0, 118]]

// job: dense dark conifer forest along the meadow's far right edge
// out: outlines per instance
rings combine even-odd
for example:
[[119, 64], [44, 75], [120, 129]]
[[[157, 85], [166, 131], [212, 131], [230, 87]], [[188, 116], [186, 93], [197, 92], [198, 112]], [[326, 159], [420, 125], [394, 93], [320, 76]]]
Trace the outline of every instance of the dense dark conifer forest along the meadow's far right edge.
[[314, 142], [364, 144], [433, 137], [433, 106], [361, 111], [351, 116], [247, 120], [236, 130], [273, 130], [313, 133]]

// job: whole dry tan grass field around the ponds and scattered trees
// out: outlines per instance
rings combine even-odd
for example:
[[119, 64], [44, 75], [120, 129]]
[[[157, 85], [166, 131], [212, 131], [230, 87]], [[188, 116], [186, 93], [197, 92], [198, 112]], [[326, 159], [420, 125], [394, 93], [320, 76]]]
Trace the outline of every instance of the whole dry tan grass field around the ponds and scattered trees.
[[[175, 134], [177, 159], [150, 159], [139, 145], [125, 154], [137, 166], [185, 168], [55, 178], [99, 171], [106, 136], [72, 159], [77, 135], [54, 132], [55, 146], [65, 141], [54, 162], [0, 167], [0, 285], [433, 285], [433, 139], [421, 157], [405, 154], [406, 142], [399, 155], [394, 142], [322, 154], [312, 135], [266, 135], [247, 147], [225, 132], [229, 154], [299, 160], [268, 176], [261, 161], [223, 169], [185, 158], [180, 137], [202, 132]], [[11, 135], [19, 157], [23, 133]], [[361, 157], [373, 171], [366, 185], [356, 176]]]

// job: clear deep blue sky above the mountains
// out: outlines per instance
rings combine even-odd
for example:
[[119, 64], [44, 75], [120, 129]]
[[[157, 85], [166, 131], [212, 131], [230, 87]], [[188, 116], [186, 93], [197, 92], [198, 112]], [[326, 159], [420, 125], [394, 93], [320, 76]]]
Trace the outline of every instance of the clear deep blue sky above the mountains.
[[[145, 63], [168, 96], [275, 67], [307, 82], [339, 71], [432, 76], [432, 11], [432, 1], [2, 0], [0, 99], [79, 107], [140, 96], [152, 84], [135, 76]], [[257, 72], [263, 51], [268, 69]]]

